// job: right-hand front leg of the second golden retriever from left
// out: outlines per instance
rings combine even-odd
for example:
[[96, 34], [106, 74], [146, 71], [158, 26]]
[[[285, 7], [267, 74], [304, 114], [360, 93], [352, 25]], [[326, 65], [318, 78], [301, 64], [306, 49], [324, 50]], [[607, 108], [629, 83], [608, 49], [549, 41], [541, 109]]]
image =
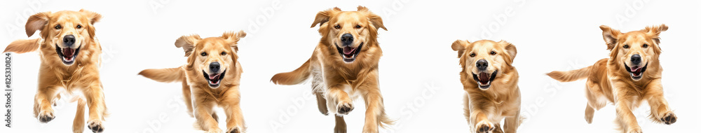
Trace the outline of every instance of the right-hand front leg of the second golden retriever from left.
[[240, 107], [240, 95], [238, 86], [232, 87], [226, 92], [226, 97], [222, 97], [222, 104], [226, 112], [226, 132], [240, 133], [245, 132], [243, 121], [243, 112]]

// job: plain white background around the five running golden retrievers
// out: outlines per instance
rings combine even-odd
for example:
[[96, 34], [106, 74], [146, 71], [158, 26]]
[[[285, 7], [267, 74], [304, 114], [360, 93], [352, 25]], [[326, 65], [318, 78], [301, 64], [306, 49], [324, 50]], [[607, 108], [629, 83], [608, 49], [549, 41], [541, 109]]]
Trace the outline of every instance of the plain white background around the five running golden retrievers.
[[[589, 66], [608, 56], [599, 25], [622, 31], [666, 24], [662, 32], [665, 97], [679, 119], [652, 123], [650, 108], [634, 111], [644, 132], [696, 132], [701, 51], [698, 1], [4, 1], [0, 6], [0, 46], [25, 39], [29, 15], [43, 11], [92, 10], [103, 48], [101, 69], [111, 115], [105, 132], [200, 132], [186, 114], [180, 83], [137, 76], [143, 69], [185, 63], [175, 39], [187, 34], [220, 36], [243, 29], [241, 99], [248, 132], [332, 132], [334, 118], [318, 112], [311, 83], [273, 85], [275, 73], [297, 69], [320, 35], [309, 28], [320, 10], [367, 6], [384, 20], [379, 31], [381, 90], [390, 118], [381, 132], [468, 132], [456, 39], [505, 40], [517, 45], [522, 114], [519, 132], [616, 132], [611, 104], [584, 120], [584, 81], [558, 83], [544, 73]], [[262, 11], [266, 10], [266, 11]], [[489, 33], [489, 34], [488, 34]], [[485, 35], [486, 34], [486, 35]], [[38, 38], [32, 36], [29, 38]], [[38, 52], [13, 55], [12, 128], [2, 132], [70, 132], [76, 103], [55, 107], [56, 118], [33, 117]], [[360, 132], [362, 100], [346, 116], [348, 132]], [[219, 110], [221, 111], [221, 110]], [[4, 111], [3, 111], [4, 112]], [[160, 119], [160, 117], [163, 119]], [[224, 113], [219, 112], [224, 120]], [[87, 117], [86, 117], [87, 118]], [[226, 129], [224, 123], [220, 123]], [[90, 132], [86, 128], [86, 132]]]

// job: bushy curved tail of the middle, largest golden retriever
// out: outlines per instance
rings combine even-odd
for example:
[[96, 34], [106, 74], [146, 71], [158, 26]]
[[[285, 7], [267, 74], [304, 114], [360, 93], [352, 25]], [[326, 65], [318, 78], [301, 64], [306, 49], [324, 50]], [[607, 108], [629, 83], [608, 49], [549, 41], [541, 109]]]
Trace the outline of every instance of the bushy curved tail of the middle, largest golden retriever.
[[295, 69], [294, 71], [290, 71], [287, 73], [277, 73], [273, 78], [270, 78], [270, 81], [272, 81], [275, 84], [278, 85], [296, 85], [301, 83], [302, 81], [306, 80], [309, 78], [309, 69], [311, 66], [311, 59], [308, 59], [307, 62], [304, 62], [302, 66], [299, 66], [299, 68]]

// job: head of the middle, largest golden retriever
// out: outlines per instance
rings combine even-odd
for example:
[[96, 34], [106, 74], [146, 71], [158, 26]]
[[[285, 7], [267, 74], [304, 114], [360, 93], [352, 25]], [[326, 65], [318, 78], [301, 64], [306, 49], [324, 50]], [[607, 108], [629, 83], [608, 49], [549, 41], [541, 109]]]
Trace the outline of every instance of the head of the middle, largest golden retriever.
[[341, 11], [340, 8], [321, 11], [311, 27], [317, 24], [322, 42], [338, 50], [339, 59], [346, 63], [352, 63], [360, 52], [376, 45], [378, 29], [387, 30], [382, 18], [364, 6], [358, 6], [358, 11]]

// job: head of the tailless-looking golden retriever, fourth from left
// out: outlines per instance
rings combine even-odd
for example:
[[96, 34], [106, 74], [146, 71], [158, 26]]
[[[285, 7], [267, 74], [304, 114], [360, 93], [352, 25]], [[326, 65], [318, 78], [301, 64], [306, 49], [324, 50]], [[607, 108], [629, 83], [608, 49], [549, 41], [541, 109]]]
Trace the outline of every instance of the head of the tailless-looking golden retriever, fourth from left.
[[516, 46], [506, 41], [455, 41], [451, 46], [458, 51], [462, 73], [472, 76], [479, 89], [487, 90], [495, 78], [510, 71], [516, 57]]

